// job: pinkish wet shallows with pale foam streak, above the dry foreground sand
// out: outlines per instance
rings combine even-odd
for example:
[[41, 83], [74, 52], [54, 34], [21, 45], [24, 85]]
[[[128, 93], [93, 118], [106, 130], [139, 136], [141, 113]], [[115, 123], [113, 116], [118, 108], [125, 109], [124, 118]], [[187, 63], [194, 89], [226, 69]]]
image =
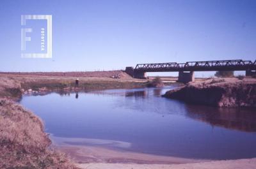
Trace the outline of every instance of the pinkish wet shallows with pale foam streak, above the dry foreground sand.
[[76, 163], [181, 164], [209, 161], [125, 151], [131, 143], [89, 138], [51, 136], [52, 147], [68, 154]]

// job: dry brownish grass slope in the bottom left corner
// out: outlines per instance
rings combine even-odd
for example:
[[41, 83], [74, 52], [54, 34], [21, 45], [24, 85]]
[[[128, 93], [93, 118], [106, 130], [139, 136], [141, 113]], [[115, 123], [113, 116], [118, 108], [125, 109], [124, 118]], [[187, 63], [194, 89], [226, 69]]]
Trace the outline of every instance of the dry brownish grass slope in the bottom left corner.
[[76, 168], [49, 149], [42, 121], [8, 99], [0, 99], [0, 168]]

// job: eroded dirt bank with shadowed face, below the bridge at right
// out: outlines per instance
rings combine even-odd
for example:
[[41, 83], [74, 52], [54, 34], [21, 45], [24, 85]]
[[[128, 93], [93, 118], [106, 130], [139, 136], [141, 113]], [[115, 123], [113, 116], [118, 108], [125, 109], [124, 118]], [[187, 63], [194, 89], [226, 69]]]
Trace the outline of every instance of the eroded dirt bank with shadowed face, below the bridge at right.
[[200, 105], [215, 107], [256, 107], [256, 79], [216, 78], [189, 83], [163, 95]]

